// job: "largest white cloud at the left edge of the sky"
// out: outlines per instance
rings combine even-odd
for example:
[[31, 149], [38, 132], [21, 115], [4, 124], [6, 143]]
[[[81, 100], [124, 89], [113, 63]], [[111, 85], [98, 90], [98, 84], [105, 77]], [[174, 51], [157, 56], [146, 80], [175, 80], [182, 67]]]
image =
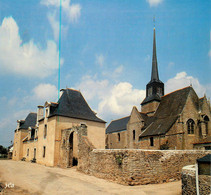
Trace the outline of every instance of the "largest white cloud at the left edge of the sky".
[[58, 68], [58, 57], [54, 41], [47, 41], [45, 49], [33, 40], [22, 44], [16, 21], [12, 17], [4, 18], [0, 26], [1, 72], [44, 78]]

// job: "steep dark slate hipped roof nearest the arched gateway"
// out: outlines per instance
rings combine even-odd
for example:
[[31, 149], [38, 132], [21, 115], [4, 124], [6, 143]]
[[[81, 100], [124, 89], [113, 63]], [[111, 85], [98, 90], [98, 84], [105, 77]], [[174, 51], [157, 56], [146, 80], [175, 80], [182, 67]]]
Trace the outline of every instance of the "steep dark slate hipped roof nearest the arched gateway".
[[58, 104], [54, 104], [50, 108], [49, 117], [52, 116], [65, 116], [106, 123], [95, 115], [81, 92], [73, 89], [63, 90], [63, 94], [60, 97]]

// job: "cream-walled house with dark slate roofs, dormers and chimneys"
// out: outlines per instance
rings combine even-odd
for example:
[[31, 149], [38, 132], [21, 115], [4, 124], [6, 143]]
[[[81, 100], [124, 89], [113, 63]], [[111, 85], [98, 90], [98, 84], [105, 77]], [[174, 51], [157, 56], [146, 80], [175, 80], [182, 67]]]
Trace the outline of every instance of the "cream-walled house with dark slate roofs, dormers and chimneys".
[[81, 140], [93, 148], [105, 148], [106, 122], [96, 116], [79, 91], [61, 92], [57, 103], [46, 102], [38, 106], [37, 113], [18, 121], [13, 160], [70, 167], [78, 163]]

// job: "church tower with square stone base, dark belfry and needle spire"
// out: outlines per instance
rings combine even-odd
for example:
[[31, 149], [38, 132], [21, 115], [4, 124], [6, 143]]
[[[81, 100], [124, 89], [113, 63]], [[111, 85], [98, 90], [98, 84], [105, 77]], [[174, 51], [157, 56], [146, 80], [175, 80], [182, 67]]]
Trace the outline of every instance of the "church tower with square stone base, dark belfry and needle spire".
[[154, 28], [151, 80], [146, 85], [146, 98], [141, 103], [141, 111], [147, 113], [148, 115], [153, 115], [161, 101], [161, 96], [163, 95], [164, 95], [164, 84], [162, 81], [159, 80], [159, 75], [158, 75], [158, 63], [156, 55], [156, 40], [155, 40], [155, 28]]

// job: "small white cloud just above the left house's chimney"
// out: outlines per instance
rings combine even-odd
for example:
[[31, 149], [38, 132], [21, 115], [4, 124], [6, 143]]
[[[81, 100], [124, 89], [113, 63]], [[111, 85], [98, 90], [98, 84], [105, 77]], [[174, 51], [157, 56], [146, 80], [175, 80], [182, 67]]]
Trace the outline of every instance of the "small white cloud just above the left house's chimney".
[[55, 85], [41, 83], [33, 89], [34, 98], [43, 101], [55, 101], [57, 88]]

